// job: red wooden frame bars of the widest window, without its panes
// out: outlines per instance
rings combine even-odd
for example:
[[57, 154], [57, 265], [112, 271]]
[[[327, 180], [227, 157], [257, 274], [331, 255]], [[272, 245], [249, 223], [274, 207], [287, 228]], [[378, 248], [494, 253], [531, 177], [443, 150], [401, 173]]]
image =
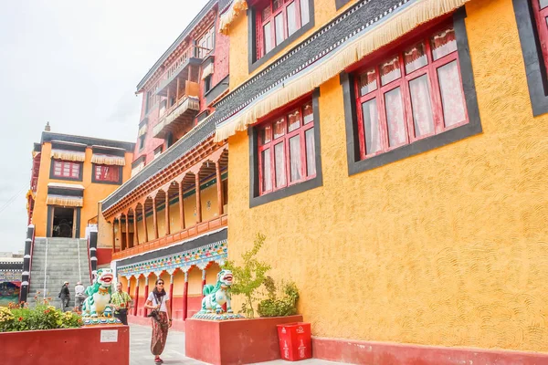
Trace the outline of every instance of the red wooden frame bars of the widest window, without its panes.
[[[464, 95], [464, 90], [462, 89], [462, 76], [460, 73], [460, 64], [458, 61], [458, 49], [455, 48], [455, 50], [453, 50], [452, 52], [448, 53], [447, 55], [443, 57], [439, 57], [437, 60], [434, 60], [432, 56], [432, 47], [430, 44], [430, 40], [432, 36], [435, 36], [438, 33], [443, 32], [444, 30], [447, 30], [449, 28], [453, 28], [452, 22], [444, 23], [441, 26], [437, 26], [433, 29], [430, 29], [429, 31], [427, 31], [427, 33], [423, 33], [421, 36], [416, 36], [412, 38], [412, 40], [410, 40], [409, 42], [406, 42], [401, 47], [398, 46], [395, 52], [390, 52], [388, 54], [385, 54], [386, 57], [382, 57], [382, 58], [374, 57], [375, 59], [374, 62], [368, 63], [366, 66], [364, 66], [363, 68], [360, 68], [355, 73], [356, 78], [354, 82], [354, 88], [355, 88], [354, 90], [355, 90], [356, 102], [357, 102], [356, 112], [358, 116], [360, 156], [362, 160], [370, 157], [374, 157], [376, 155], [385, 153], [387, 151], [395, 150], [398, 147], [413, 143], [414, 141], [422, 140], [427, 137], [431, 137], [433, 135], [442, 133], [446, 130], [457, 128], [469, 122], [468, 110], [466, 106], [466, 98]], [[422, 66], [420, 68], [416, 68], [415, 70], [407, 73], [406, 64], [404, 62], [404, 53], [410, 47], [418, 46], [420, 43], [422, 43], [426, 48], [427, 65]], [[397, 57], [399, 61], [400, 77], [390, 82], [387, 82], [385, 85], [382, 85], [380, 66], [385, 61], [391, 60], [395, 57]], [[463, 107], [465, 119], [451, 126], [446, 126], [445, 120], [444, 120], [442, 98], [441, 98], [441, 89], [440, 89], [439, 80], [437, 77], [438, 75], [437, 69], [445, 65], [448, 65], [451, 62], [457, 63], [458, 80], [459, 80], [460, 92], [462, 97], [461, 100], [463, 102], [462, 107]], [[360, 76], [364, 75], [364, 73], [372, 69], [374, 69], [376, 73], [376, 89], [362, 95], [360, 93]], [[430, 93], [429, 101], [432, 106], [434, 130], [430, 133], [427, 133], [421, 136], [416, 136], [415, 120], [413, 117], [409, 82], [417, 78], [423, 77], [424, 75], [427, 75], [427, 79], [428, 79], [427, 86], [428, 86], [428, 92]], [[400, 88], [401, 97], [404, 104], [403, 116], [404, 116], [404, 128], [406, 132], [406, 138], [405, 138], [405, 141], [402, 141], [401, 143], [390, 145], [389, 137], [388, 137], [386, 108], [385, 108], [385, 94], [397, 88]], [[367, 153], [366, 152], [367, 149], [365, 146], [364, 115], [363, 115], [362, 105], [365, 102], [372, 99], [376, 99], [376, 103], [377, 103], [377, 115], [378, 115], [377, 118], [378, 118], [378, 124], [379, 124], [379, 136], [380, 136], [379, 138], [381, 139], [381, 148], [379, 151]]]

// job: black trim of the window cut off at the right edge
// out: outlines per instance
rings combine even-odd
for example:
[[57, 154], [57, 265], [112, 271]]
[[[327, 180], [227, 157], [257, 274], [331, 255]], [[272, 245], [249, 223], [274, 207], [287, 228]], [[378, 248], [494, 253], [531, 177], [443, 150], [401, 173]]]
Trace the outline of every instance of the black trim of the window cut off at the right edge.
[[533, 117], [548, 112], [548, 76], [531, 0], [512, 0]]

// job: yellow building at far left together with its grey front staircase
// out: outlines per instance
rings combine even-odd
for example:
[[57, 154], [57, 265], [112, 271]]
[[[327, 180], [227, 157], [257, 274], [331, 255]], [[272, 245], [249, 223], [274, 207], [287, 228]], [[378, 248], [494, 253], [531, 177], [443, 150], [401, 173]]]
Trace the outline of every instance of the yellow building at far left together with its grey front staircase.
[[95, 239], [90, 251], [85, 239], [97, 231], [100, 200], [131, 177], [133, 149], [130, 142], [53, 133], [47, 125], [34, 145], [26, 193], [22, 300], [32, 305], [40, 292], [55, 303], [63, 281], [90, 283], [90, 267], [110, 265], [104, 239]]

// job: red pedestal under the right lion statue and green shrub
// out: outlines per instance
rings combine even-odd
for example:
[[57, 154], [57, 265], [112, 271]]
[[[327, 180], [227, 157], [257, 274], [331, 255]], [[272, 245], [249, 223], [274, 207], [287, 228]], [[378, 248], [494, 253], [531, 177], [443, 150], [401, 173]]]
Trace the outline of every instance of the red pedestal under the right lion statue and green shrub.
[[185, 355], [215, 365], [279, 360], [276, 325], [301, 321], [302, 316], [227, 320], [188, 318]]

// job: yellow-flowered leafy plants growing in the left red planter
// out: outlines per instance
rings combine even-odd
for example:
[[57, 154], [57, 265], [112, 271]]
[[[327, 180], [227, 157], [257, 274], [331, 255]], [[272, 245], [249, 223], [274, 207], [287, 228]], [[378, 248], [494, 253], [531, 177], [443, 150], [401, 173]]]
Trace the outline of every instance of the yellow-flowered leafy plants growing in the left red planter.
[[47, 300], [37, 302], [35, 308], [26, 303], [0, 307], [0, 332], [26, 331], [35, 329], [79, 328], [83, 324], [77, 313], [61, 312], [49, 305]]

